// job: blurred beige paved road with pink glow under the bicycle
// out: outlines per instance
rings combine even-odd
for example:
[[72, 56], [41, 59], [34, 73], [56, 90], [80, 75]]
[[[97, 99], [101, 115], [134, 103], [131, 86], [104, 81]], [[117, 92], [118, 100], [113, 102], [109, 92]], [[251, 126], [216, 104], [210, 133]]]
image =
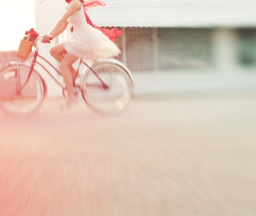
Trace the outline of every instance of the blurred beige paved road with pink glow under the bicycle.
[[255, 216], [252, 97], [137, 98], [112, 118], [58, 104], [0, 113], [1, 216]]

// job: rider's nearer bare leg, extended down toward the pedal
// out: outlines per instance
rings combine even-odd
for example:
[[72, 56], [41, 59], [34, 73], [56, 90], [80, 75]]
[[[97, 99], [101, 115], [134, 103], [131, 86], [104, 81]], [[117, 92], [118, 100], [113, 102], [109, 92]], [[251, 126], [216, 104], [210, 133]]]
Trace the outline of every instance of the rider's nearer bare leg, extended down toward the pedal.
[[75, 100], [75, 94], [73, 91], [73, 79], [70, 71], [72, 64], [78, 60], [78, 57], [66, 53], [63, 60], [60, 62], [60, 71], [62, 73], [64, 82], [66, 84], [68, 93], [68, 102]]

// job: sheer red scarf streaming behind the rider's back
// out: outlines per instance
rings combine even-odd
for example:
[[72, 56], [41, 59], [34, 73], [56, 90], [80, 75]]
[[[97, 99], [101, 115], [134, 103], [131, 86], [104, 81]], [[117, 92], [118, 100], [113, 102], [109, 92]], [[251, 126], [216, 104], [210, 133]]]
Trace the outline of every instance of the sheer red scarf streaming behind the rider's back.
[[[71, 2], [72, 0], [65, 0], [67, 3]], [[103, 34], [105, 34], [111, 41], [115, 41], [116, 38], [120, 35], [122, 35], [124, 33], [124, 31], [120, 31], [118, 30], [117, 28], [113, 28], [111, 30], [109, 29], [105, 29], [103, 27], [98, 27], [98, 26], [95, 26], [89, 16], [86, 14], [86, 11], [87, 10], [90, 10], [91, 8], [94, 8], [96, 6], [105, 6], [106, 4], [103, 2], [103, 1], [98, 1], [98, 0], [88, 0], [88, 1], [85, 1], [83, 0], [82, 1], [83, 3], [83, 7], [84, 7], [84, 15], [85, 15], [85, 18], [86, 18], [86, 22], [88, 24], [90, 24], [91, 26], [93, 26], [95, 29], [98, 29], [100, 30]], [[72, 27], [71, 27], [72, 28]]]

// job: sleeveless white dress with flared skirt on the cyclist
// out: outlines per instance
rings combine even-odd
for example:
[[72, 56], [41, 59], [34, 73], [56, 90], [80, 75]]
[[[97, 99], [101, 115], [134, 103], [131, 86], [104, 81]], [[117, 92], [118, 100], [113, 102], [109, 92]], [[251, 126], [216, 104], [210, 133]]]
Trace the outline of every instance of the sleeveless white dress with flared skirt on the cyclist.
[[83, 5], [69, 17], [68, 22], [74, 30], [71, 37], [61, 43], [67, 53], [86, 59], [110, 58], [121, 53], [114, 42], [86, 22]]

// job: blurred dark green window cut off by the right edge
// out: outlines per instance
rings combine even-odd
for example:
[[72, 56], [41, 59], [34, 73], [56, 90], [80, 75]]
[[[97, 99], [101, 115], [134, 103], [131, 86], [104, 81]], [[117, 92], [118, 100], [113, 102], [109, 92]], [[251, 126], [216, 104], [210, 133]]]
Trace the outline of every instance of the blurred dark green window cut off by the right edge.
[[256, 66], [256, 29], [241, 29], [238, 34], [240, 64]]

